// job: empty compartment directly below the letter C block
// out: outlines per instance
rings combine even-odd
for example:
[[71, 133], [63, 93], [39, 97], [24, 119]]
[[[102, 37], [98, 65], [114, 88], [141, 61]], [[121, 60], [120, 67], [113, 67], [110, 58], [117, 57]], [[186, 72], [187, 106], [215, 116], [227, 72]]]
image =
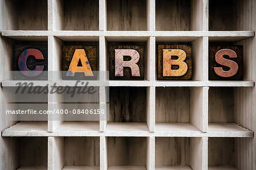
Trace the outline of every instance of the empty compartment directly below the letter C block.
[[[19, 125], [20, 129], [24, 131], [47, 131], [48, 94], [44, 94], [46, 90], [43, 88], [45, 87], [31, 87], [31, 85], [28, 87], [3, 87], [3, 95], [5, 95], [5, 100], [2, 101], [5, 113], [3, 118], [10, 121], [23, 121]], [[36, 121], [40, 121], [38, 126], [36, 126]], [[18, 130], [19, 125], [14, 129]]]

